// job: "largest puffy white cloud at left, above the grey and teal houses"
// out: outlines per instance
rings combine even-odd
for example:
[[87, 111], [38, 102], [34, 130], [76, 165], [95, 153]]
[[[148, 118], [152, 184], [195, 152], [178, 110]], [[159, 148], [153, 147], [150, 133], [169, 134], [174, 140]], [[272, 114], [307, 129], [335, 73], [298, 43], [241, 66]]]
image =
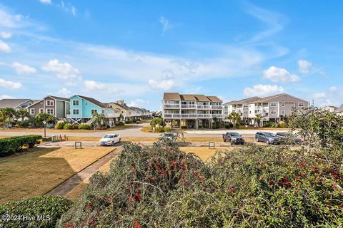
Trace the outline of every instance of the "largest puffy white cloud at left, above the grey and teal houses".
[[46, 63], [46, 65], [42, 66], [41, 69], [43, 71], [56, 73], [57, 77], [64, 80], [70, 80], [72, 78], [81, 79], [80, 71], [78, 69], [74, 68], [69, 63], [60, 63], [57, 59], [52, 59]]

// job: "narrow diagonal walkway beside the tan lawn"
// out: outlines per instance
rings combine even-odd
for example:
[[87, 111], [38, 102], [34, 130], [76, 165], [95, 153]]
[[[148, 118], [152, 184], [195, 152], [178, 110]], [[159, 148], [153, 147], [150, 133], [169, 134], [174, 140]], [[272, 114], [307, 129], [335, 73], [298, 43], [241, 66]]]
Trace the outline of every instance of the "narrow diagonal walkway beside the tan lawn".
[[88, 167], [84, 168], [84, 170], [81, 170], [80, 172], [76, 173], [76, 175], [70, 177], [68, 180], [61, 183], [61, 185], [55, 187], [50, 192], [46, 193], [46, 195], [59, 195], [59, 196], [65, 196], [68, 192], [74, 189], [77, 185], [79, 185], [84, 180], [89, 179], [91, 175], [96, 172], [96, 170], [99, 169], [99, 167], [103, 166], [111, 160], [112, 158], [116, 157], [116, 155], [119, 155], [119, 153], [123, 150], [123, 147], [116, 147], [116, 150], [109, 152], [109, 154], [105, 155], [104, 157], [101, 157], [99, 160], [94, 162], [93, 164], [89, 165]]

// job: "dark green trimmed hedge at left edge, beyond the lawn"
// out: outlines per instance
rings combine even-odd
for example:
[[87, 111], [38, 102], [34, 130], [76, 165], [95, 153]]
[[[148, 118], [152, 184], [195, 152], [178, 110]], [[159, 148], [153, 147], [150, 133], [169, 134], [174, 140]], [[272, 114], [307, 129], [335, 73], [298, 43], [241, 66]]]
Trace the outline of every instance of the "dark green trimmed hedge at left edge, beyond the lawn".
[[32, 148], [39, 144], [41, 135], [24, 135], [0, 139], [0, 157], [19, 152], [23, 146]]

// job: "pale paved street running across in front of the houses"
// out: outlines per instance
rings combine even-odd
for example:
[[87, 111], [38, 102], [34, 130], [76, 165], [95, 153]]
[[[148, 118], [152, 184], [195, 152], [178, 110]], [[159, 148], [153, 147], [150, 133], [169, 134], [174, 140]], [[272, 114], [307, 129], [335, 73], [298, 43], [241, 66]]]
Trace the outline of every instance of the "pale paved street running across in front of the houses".
[[[145, 126], [149, 125], [149, 123], [140, 123], [137, 125], [132, 125], [130, 128], [126, 128], [123, 130], [109, 130], [109, 131], [101, 131], [101, 132], [90, 132], [90, 133], [65, 133], [65, 132], [55, 132], [55, 133], [46, 133], [46, 135], [67, 135], [67, 136], [79, 136], [79, 137], [102, 137], [109, 133], [119, 134], [121, 137], [158, 137], [161, 135], [161, 133], [144, 133], [140, 130], [140, 128], [143, 128]], [[185, 137], [195, 137], [195, 138], [216, 138], [216, 137], [222, 137], [222, 134], [226, 133], [228, 130], [186, 130], [186, 133], [184, 134]], [[257, 131], [261, 130], [234, 130], [235, 132], [245, 136], [245, 137], [253, 137]], [[285, 131], [285, 130], [267, 130], [269, 132], [277, 133], [279, 131]], [[1, 131], [0, 130], [0, 136], [15, 136], [15, 135], [31, 135], [32, 133], [25, 133], [25, 132], [19, 132], [19, 131]], [[44, 133], [34, 133], [34, 134], [41, 134]]]

